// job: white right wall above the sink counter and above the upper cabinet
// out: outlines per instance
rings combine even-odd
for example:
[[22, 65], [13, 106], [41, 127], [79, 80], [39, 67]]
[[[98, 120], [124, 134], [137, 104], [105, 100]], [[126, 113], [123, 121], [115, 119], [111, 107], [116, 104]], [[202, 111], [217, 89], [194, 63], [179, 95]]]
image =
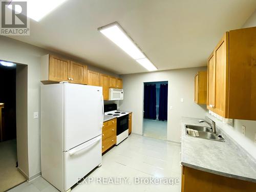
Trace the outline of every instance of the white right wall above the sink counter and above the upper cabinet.
[[[256, 11], [247, 19], [242, 28], [256, 27]], [[255, 34], [256, 35], [256, 34]], [[256, 109], [255, 109], [256, 110]], [[212, 117], [208, 114], [209, 117]], [[216, 120], [218, 126], [237, 141], [252, 157], [256, 159], [256, 144], [254, 137], [256, 134], [256, 121], [234, 119], [233, 127]], [[245, 135], [242, 135], [242, 125], [246, 126]]]

